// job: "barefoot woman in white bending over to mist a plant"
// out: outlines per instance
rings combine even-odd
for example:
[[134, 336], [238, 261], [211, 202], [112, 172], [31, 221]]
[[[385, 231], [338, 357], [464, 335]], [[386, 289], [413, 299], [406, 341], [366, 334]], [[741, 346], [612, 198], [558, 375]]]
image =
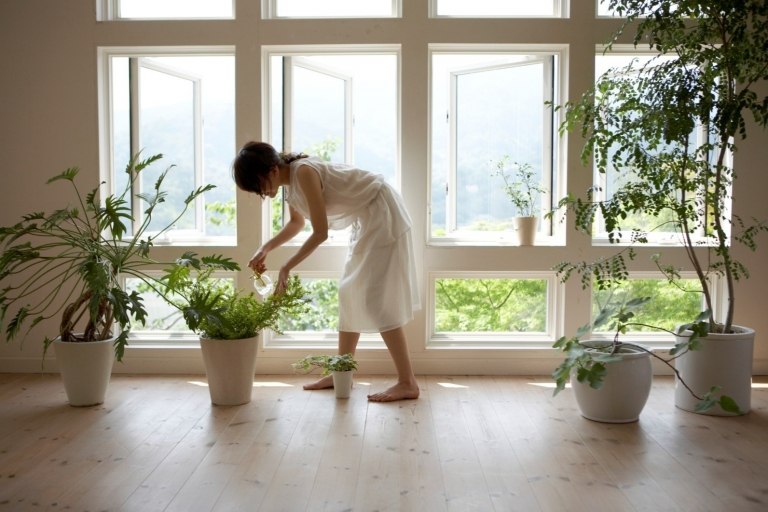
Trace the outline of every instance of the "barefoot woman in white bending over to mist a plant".
[[[361, 332], [379, 332], [397, 369], [397, 383], [368, 395], [375, 402], [418, 398], [403, 326], [419, 309], [411, 241], [411, 220], [402, 198], [380, 175], [331, 164], [304, 154], [280, 154], [264, 142], [249, 142], [233, 165], [237, 186], [262, 198], [285, 188], [290, 220], [248, 262], [266, 270], [270, 251], [295, 237], [305, 219], [312, 233], [280, 268], [275, 293], [291, 270], [328, 237], [329, 229], [351, 226], [344, 272], [339, 283], [339, 354], [354, 354]], [[304, 386], [333, 386], [330, 376]]]

